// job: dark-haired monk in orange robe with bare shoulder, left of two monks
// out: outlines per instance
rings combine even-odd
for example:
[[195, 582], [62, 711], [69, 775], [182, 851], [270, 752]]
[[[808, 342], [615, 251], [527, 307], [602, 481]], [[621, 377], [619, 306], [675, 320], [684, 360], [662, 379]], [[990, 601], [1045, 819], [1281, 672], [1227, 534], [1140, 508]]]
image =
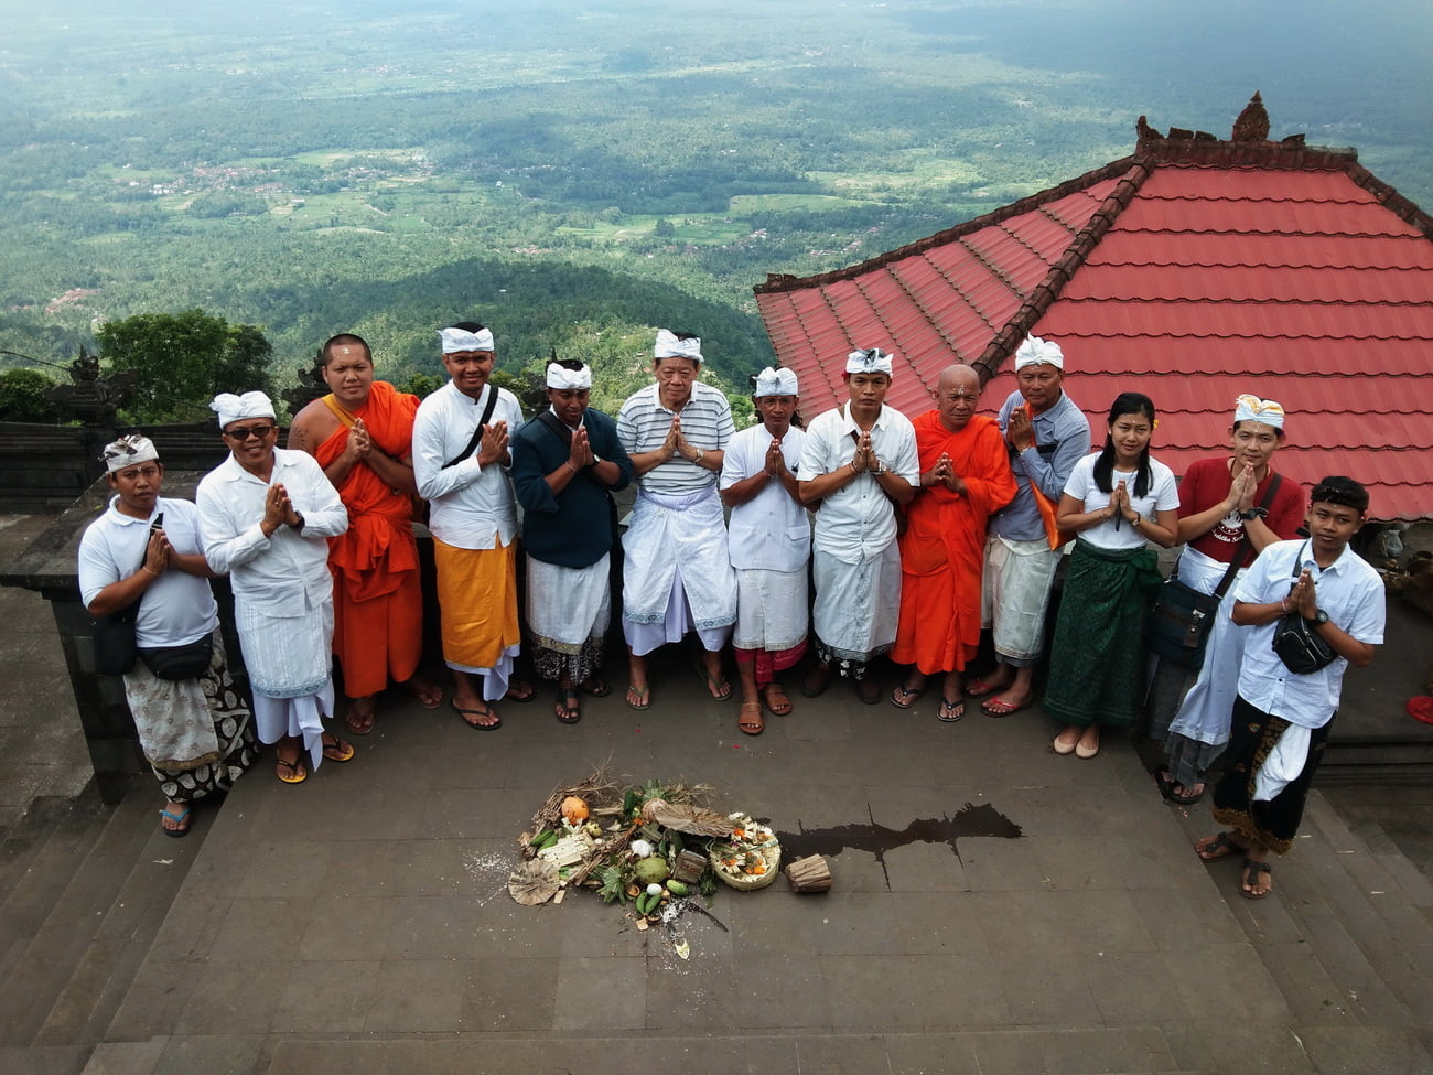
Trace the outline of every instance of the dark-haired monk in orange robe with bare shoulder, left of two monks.
[[404, 684], [426, 707], [443, 691], [414, 675], [423, 656], [423, 586], [413, 538], [413, 416], [418, 397], [373, 378], [363, 338], [335, 335], [320, 355], [330, 394], [294, 419], [288, 446], [318, 460], [348, 509], [328, 540], [334, 654], [350, 698], [348, 727], [373, 731], [375, 695]]

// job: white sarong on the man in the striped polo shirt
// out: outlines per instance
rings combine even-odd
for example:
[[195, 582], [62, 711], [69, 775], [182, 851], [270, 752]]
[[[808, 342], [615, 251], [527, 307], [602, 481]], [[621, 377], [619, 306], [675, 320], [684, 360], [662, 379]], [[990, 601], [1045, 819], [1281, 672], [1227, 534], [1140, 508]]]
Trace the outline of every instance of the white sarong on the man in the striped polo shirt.
[[696, 631], [737, 622], [737, 576], [715, 486], [686, 496], [639, 492], [622, 548], [622, 618], [628, 624], [661, 625], [676, 589]]

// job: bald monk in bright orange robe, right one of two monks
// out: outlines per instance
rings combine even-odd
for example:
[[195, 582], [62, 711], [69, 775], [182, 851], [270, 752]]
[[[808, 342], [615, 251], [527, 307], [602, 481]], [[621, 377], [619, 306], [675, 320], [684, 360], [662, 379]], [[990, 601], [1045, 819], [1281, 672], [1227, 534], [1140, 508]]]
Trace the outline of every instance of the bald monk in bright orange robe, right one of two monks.
[[980, 377], [949, 366], [933, 393], [936, 408], [911, 424], [920, 489], [900, 536], [900, 625], [891, 659], [911, 665], [891, 692], [909, 710], [926, 677], [944, 674], [936, 717], [964, 715], [960, 674], [980, 645], [980, 575], [986, 520], [1015, 499], [1015, 476], [995, 419], [976, 414]]

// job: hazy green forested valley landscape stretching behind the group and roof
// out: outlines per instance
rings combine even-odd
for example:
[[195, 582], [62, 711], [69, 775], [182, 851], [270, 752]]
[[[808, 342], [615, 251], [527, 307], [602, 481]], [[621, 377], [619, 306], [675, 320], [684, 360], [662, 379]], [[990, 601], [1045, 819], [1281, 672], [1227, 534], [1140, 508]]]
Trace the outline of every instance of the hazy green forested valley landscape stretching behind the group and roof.
[[1403, 0], [6, 7], [0, 348], [46, 361], [202, 308], [259, 325], [279, 383], [340, 330], [401, 380], [479, 318], [506, 368], [586, 357], [613, 394], [686, 328], [735, 387], [768, 272], [1123, 156], [1141, 113], [1227, 135], [1254, 89], [1275, 138], [1433, 191]]

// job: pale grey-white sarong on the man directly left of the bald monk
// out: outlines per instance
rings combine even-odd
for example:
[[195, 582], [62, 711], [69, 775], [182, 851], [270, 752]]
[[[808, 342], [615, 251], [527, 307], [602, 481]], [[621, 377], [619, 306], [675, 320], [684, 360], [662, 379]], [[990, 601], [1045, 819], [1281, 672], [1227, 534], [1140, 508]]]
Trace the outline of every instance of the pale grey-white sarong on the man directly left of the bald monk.
[[840, 661], [864, 664], [896, 645], [900, 624], [900, 549], [891, 542], [857, 563], [817, 549], [813, 626]]

